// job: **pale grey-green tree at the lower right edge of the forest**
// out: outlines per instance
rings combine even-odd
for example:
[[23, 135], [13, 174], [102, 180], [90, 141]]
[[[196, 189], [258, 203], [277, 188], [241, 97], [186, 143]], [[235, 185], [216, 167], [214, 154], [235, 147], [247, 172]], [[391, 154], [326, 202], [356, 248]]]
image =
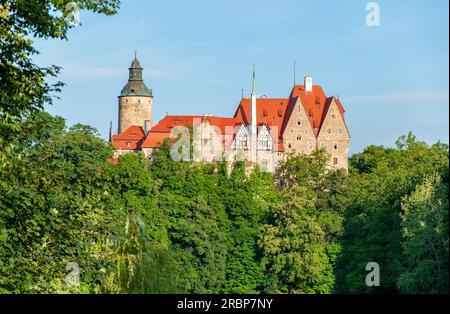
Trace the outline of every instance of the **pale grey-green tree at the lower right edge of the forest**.
[[426, 177], [403, 198], [405, 255], [398, 287], [405, 293], [448, 293], [448, 182]]

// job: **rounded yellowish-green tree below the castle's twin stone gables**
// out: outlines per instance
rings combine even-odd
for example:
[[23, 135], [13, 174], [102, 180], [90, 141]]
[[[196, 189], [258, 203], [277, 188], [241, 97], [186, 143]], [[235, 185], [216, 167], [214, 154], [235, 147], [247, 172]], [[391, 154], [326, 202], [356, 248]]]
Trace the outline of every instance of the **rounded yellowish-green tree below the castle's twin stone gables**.
[[315, 195], [295, 186], [284, 192], [284, 202], [270, 212], [259, 244], [263, 262], [277, 278], [277, 290], [289, 293], [329, 293], [333, 287], [325, 232], [320, 227]]

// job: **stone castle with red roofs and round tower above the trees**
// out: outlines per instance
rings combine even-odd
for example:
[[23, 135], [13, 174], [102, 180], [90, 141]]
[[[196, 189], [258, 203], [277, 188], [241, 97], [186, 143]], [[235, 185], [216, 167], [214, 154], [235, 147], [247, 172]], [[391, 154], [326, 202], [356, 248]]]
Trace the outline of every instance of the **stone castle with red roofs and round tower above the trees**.
[[311, 77], [294, 85], [288, 98], [257, 98], [253, 71], [251, 98], [241, 99], [233, 117], [166, 115], [153, 124], [153, 93], [142, 70], [135, 57], [119, 96], [118, 134], [112, 134], [110, 127], [116, 159], [136, 151], [151, 156], [165, 139], [175, 143], [185, 134], [180, 130], [190, 127], [195, 130], [197, 161], [233, 163], [242, 158], [274, 171], [291, 153], [325, 149], [330, 167], [347, 169], [350, 134], [344, 107], [337, 97], [327, 97], [319, 85], [313, 85]]

